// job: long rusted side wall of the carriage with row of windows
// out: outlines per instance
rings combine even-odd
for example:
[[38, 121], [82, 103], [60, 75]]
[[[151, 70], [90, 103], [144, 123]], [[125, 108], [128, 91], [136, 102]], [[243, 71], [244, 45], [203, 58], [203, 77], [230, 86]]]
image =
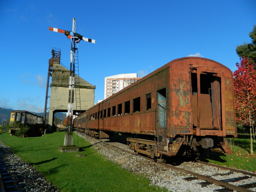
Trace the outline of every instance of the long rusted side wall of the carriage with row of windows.
[[[157, 90], [166, 88], [168, 92], [169, 67], [159, 68], [155, 73], [151, 73], [142, 80], [129, 85], [115, 95], [100, 102], [88, 111], [96, 113], [98, 111], [122, 104], [122, 115], [110, 116], [101, 119], [89, 120], [88, 128], [105, 131], [117, 131], [127, 133], [138, 133], [156, 135], [156, 101]], [[151, 93], [151, 109], [146, 110], [146, 94]], [[140, 97], [140, 112], [132, 112], [133, 99]], [[124, 114], [124, 102], [130, 101], [130, 113]], [[167, 101], [168, 102], [168, 101]], [[170, 107], [168, 107], [170, 109]], [[117, 109], [116, 109], [117, 110]], [[167, 109], [168, 110], [168, 109]]]

